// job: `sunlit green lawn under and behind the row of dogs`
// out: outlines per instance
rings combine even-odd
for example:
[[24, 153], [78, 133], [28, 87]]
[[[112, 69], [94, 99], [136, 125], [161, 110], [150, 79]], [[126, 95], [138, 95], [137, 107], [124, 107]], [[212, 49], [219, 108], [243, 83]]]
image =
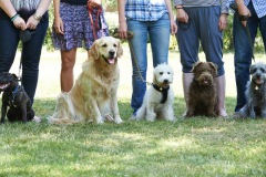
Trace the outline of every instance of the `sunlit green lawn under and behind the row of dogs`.
[[[151, 53], [149, 51], [149, 53]], [[263, 59], [264, 58], [264, 59]], [[86, 59], [79, 51], [75, 76]], [[151, 54], [149, 55], [151, 59]], [[204, 55], [201, 53], [204, 61]], [[256, 55], [265, 60], [265, 55]], [[266, 121], [231, 117], [235, 106], [233, 54], [224, 55], [226, 108], [229, 117], [183, 119], [181, 64], [178, 52], [170, 52], [175, 76], [174, 110], [177, 121], [130, 121], [131, 60], [124, 44], [119, 60], [121, 82], [119, 107], [124, 123], [115, 125], [48, 125], [60, 93], [60, 54], [43, 51], [34, 110], [40, 124], [0, 125], [0, 176], [266, 176]], [[11, 70], [18, 73], [19, 55]], [[149, 61], [147, 81], [152, 81]]]

